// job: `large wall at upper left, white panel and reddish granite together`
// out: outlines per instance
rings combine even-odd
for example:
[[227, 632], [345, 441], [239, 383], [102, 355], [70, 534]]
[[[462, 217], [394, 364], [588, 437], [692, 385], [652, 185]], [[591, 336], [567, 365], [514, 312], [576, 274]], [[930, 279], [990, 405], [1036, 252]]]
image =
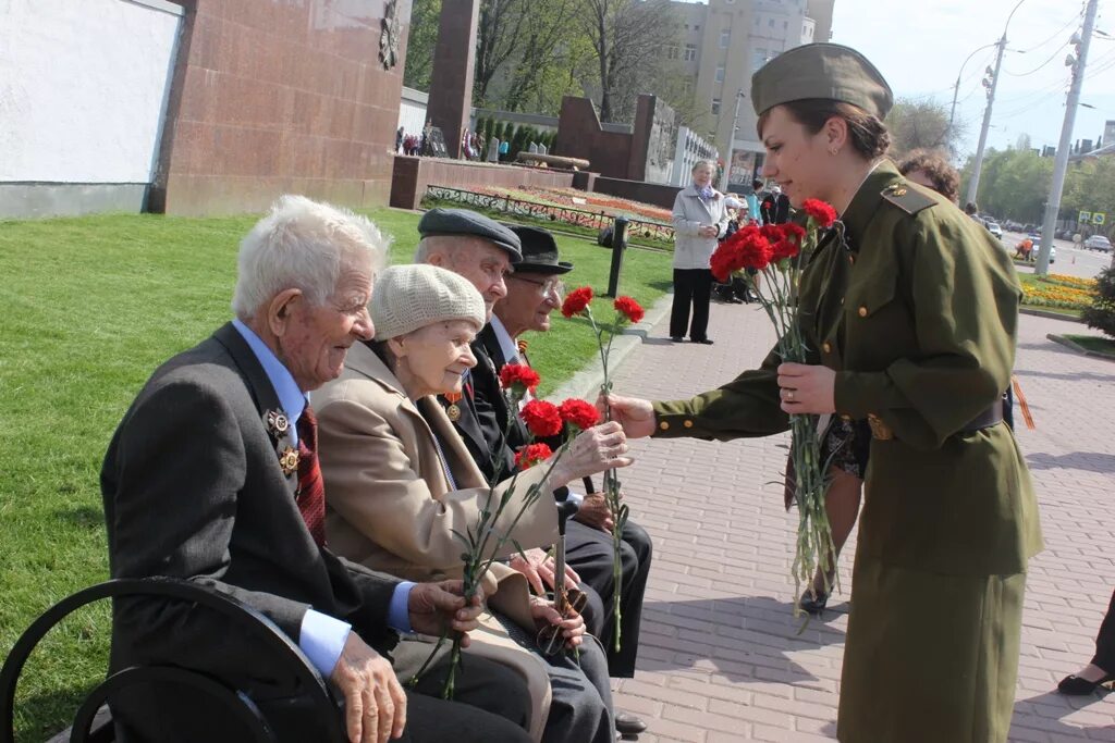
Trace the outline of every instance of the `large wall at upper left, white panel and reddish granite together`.
[[409, 8], [0, 0], [0, 216], [386, 204]]

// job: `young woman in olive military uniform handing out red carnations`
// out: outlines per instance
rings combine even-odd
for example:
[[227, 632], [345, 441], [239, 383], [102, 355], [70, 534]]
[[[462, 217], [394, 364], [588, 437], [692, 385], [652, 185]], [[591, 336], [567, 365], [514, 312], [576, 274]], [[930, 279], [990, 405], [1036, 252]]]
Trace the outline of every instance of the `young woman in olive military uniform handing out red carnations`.
[[1029, 473], [999, 398], [1020, 291], [981, 226], [884, 159], [893, 97], [859, 52], [786, 51], [752, 80], [764, 175], [840, 229], [802, 276], [808, 364], [762, 368], [690, 400], [612, 398], [629, 437], [779, 433], [787, 413], [867, 420], [837, 736], [1007, 740], [1026, 564], [1041, 549]]

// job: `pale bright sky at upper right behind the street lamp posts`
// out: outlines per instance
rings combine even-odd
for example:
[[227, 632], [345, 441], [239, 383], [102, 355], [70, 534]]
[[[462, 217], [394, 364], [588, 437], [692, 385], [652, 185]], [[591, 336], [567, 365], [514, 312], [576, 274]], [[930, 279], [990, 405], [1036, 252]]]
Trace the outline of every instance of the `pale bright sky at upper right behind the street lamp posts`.
[[[698, 0], [699, 1], [699, 0]], [[1084, 21], [1080, 0], [835, 0], [832, 41], [859, 49], [880, 69], [895, 96], [931, 98], [951, 107], [953, 86], [964, 59], [957, 120], [967, 133], [961, 154], [976, 150], [987, 98], [980, 79], [995, 65], [993, 45], [1007, 30], [1007, 49], [991, 114], [988, 146], [1015, 146], [1029, 135], [1030, 146], [1057, 146], [1065, 119], [1069, 38]], [[1082, 104], [1073, 140], [1103, 134], [1115, 119], [1115, 0], [1099, 0], [1096, 29], [1086, 60]], [[1016, 51], [1010, 51], [1016, 50]], [[1021, 53], [1020, 53], [1021, 52]]]

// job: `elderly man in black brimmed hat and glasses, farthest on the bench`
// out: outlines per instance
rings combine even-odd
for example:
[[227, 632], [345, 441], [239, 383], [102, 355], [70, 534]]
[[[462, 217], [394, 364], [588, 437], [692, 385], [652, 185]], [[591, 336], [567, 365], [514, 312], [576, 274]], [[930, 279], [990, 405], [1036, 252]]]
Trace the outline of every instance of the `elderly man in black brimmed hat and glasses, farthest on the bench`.
[[[550, 314], [562, 302], [564, 286], [561, 276], [573, 270], [572, 263], [559, 260], [558, 243], [545, 229], [514, 225], [511, 231], [522, 243], [523, 260], [515, 264], [515, 273], [507, 277], [507, 295], [496, 303], [492, 322], [477, 336], [495, 369], [505, 363], [530, 364], [526, 341], [520, 340], [520, 336], [526, 331], [544, 333], [550, 330]], [[495, 420], [511, 418], [502, 394], [488, 399], [477, 392], [476, 397], [482, 417]], [[507, 440], [508, 451], [517, 450], [527, 441], [524, 428], [513, 426]], [[592, 607], [588, 614], [590, 630], [608, 647], [609, 673], [630, 678], [634, 675], [642, 597], [650, 575], [650, 535], [630, 520], [623, 529], [620, 597], [623, 639], [620, 649], [615, 651], [610, 642], [615, 630], [612, 607], [617, 588], [612, 577], [612, 524], [603, 495], [595, 492], [590, 478], [585, 478], [584, 486], [589, 495], [569, 493], [570, 498], [580, 501], [580, 508], [566, 535], [566, 564], [576, 571], [582, 590], [589, 596]], [[527, 557], [534, 559], [540, 556]], [[524, 571], [537, 590], [542, 590], [543, 583], [553, 586], [553, 571], [547, 570], [545, 564], [537, 565], [536, 569], [525, 568]], [[638, 734], [646, 730], [641, 720], [626, 712], [615, 713], [615, 726], [624, 734]]]

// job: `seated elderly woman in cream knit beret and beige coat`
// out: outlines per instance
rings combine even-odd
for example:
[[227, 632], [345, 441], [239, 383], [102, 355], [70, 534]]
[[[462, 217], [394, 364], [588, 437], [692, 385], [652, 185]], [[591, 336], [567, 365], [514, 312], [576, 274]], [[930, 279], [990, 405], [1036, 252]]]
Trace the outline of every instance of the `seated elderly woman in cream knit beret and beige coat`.
[[[469, 343], [484, 325], [484, 300], [450, 271], [405, 265], [380, 274], [370, 310], [375, 340], [355, 345], [340, 378], [313, 399], [330, 546], [411, 580], [459, 576], [464, 546], [454, 532], [476, 524], [489, 488], [435, 395], [460, 393], [476, 364]], [[552, 469], [543, 463], [517, 477], [496, 529], [511, 527], [531, 486], [551, 492], [626, 466], [630, 459], [612, 459], [626, 451], [615, 423], [581, 432]], [[510, 486], [511, 480], [497, 485], [495, 499]], [[553, 498], [539, 498], [511, 535], [523, 549], [549, 546], [556, 540], [556, 522]], [[502, 556], [514, 549], [508, 541]], [[535, 740], [611, 741], [607, 661], [584, 634], [584, 620], [562, 617], [552, 602], [531, 596], [524, 576], [502, 563], [493, 564], [486, 583], [493, 613], [472, 633], [466, 652], [500, 661], [524, 678], [534, 700], [529, 727]], [[560, 626], [568, 645], [579, 648], [580, 665], [566, 654], [544, 658], [536, 652], [534, 636], [546, 624]]]

